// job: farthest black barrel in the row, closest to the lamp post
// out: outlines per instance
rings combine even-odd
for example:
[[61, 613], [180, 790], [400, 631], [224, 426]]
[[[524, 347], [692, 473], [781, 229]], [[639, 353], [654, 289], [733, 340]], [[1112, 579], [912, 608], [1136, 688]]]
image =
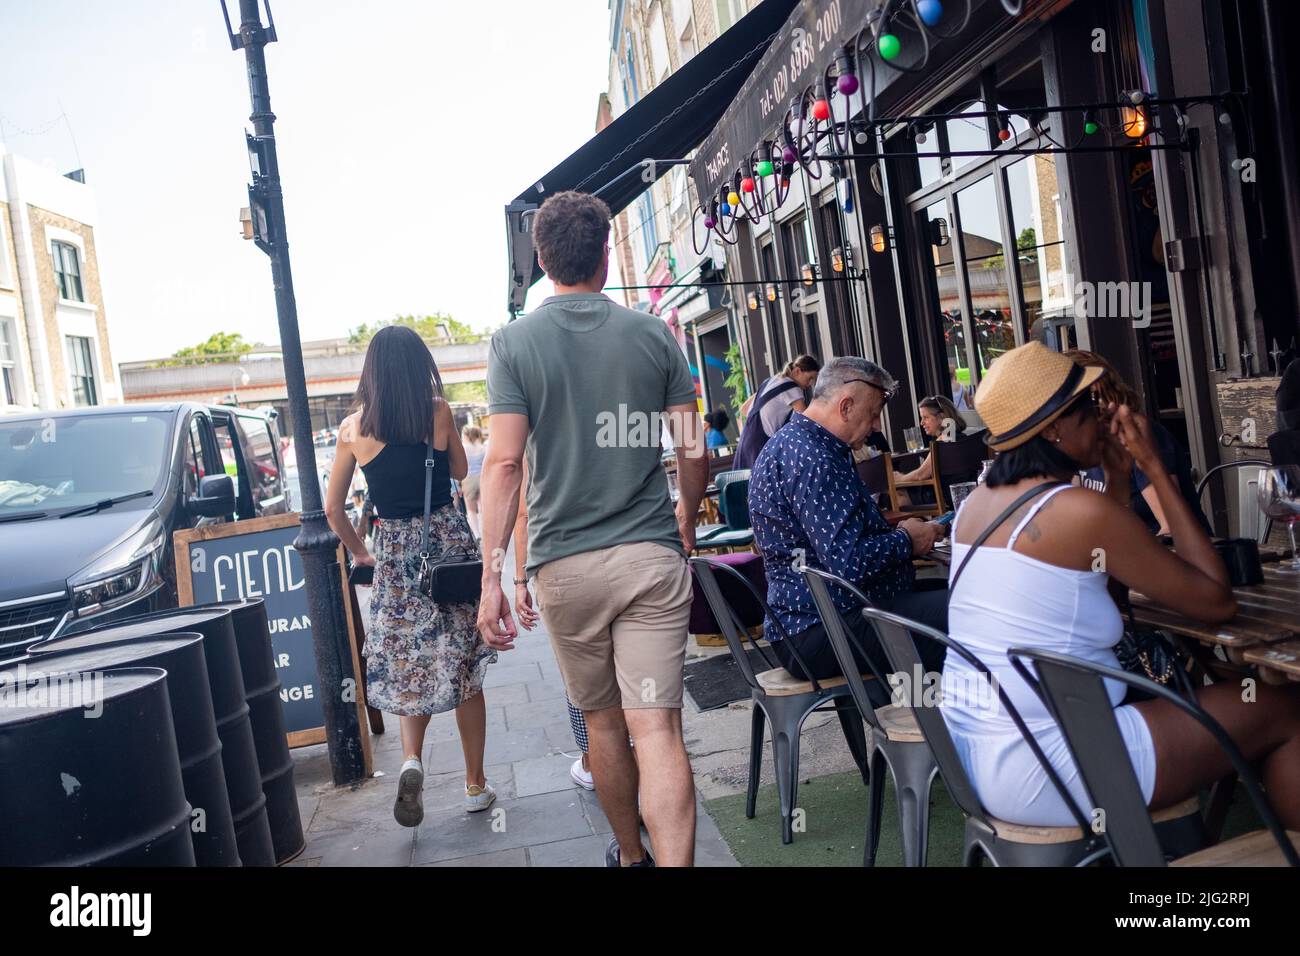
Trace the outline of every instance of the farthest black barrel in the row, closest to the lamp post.
[[202, 606], [230, 609], [248, 698], [248, 719], [252, 721], [252, 736], [257, 744], [261, 792], [266, 795], [270, 840], [276, 847], [276, 862], [282, 864], [302, 853], [307, 840], [303, 838], [303, 818], [298, 813], [294, 758], [289, 754], [285, 732], [285, 709], [280, 700], [280, 675], [276, 674], [266, 602], [255, 597]]

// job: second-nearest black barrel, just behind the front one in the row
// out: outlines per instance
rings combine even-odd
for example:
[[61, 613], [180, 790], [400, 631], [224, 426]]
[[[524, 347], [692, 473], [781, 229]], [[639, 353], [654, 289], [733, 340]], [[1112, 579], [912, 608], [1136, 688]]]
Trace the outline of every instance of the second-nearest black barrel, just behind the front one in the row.
[[[148, 627], [148, 626], [146, 626]], [[185, 797], [190, 801], [190, 836], [199, 866], [238, 866], [235, 823], [230, 814], [226, 775], [221, 766], [221, 739], [212, 714], [208, 666], [203, 658], [203, 635], [177, 633], [139, 637], [131, 624], [108, 628], [124, 644], [83, 650], [36, 654], [22, 661], [27, 674], [107, 671], [120, 667], [161, 667], [166, 671], [172, 722], [181, 757]], [[103, 636], [104, 632], [96, 632]], [[139, 640], [131, 640], [139, 637]], [[13, 665], [0, 670], [13, 672]], [[198, 813], [202, 812], [202, 813]]]

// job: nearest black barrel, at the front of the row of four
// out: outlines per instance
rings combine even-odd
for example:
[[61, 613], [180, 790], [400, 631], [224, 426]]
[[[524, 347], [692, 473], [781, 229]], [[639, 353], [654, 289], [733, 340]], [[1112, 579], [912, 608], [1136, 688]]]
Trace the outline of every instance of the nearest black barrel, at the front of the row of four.
[[194, 866], [166, 674], [66, 674], [64, 692], [17, 674], [0, 706], [0, 866]]

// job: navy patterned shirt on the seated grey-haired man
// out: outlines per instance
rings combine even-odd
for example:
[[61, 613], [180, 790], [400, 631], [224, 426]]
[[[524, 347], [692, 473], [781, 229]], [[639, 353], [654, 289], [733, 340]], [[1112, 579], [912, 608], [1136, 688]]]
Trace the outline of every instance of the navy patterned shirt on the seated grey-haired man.
[[[913, 589], [911, 538], [890, 531], [858, 477], [849, 446], [798, 412], [763, 446], [749, 477], [749, 516], [767, 572], [767, 602], [789, 635], [819, 623], [803, 576], [790, 567], [796, 549], [805, 561], [853, 581], [872, 601]], [[854, 606], [831, 588], [841, 611]], [[779, 640], [771, 620], [764, 637]]]

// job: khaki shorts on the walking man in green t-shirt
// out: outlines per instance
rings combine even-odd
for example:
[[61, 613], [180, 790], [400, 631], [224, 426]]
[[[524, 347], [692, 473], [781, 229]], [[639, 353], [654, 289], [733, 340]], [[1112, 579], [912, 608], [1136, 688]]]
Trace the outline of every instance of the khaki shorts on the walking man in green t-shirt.
[[578, 710], [681, 708], [690, 571], [653, 541], [547, 562], [537, 571], [542, 620]]

